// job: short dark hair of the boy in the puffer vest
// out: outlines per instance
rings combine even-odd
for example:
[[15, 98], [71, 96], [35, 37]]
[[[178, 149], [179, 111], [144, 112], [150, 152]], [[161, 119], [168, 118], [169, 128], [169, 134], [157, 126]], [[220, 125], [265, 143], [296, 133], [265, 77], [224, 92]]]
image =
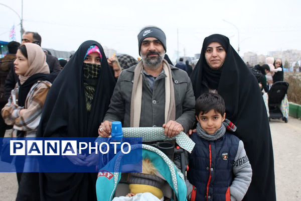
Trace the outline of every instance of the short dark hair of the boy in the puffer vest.
[[226, 112], [225, 101], [222, 96], [217, 93], [203, 93], [196, 100], [196, 115], [199, 116], [208, 113], [210, 110], [221, 114], [222, 116]]

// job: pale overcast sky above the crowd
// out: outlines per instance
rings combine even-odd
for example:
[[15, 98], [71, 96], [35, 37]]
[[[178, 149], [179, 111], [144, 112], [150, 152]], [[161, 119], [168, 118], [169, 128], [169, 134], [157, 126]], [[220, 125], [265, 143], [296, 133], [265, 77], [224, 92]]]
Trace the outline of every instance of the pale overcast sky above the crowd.
[[[21, 0], [0, 0], [21, 16]], [[137, 34], [146, 25], [160, 27], [167, 36], [167, 54], [176, 58], [201, 52], [205, 37], [219, 33], [230, 39], [240, 55], [252, 51], [301, 49], [299, 0], [182, 0], [182, 1], [23, 1], [23, 27], [42, 36], [42, 47], [77, 50], [85, 40], [96, 40], [118, 53], [138, 56]], [[15, 24], [20, 42], [20, 19], [0, 5], [0, 40], [9, 41]], [[228, 21], [233, 25], [225, 22]]]

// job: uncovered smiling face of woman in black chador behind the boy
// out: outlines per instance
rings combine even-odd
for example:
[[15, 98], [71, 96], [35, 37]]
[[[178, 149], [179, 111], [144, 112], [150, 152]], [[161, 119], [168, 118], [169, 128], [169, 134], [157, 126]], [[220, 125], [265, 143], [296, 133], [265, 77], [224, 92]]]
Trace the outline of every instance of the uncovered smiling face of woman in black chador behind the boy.
[[211, 68], [218, 69], [225, 62], [226, 51], [220, 43], [212, 42], [206, 48], [205, 58]]

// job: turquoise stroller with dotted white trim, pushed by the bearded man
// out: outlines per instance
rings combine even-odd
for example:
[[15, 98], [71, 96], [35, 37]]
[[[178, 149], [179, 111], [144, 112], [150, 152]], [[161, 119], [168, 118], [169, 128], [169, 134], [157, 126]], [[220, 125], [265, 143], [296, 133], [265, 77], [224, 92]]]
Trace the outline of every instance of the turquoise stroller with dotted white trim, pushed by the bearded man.
[[[123, 128], [123, 137], [141, 137], [142, 142], [154, 142], [162, 140], [176, 140], [179, 147], [176, 149], [184, 149], [191, 152], [195, 146], [195, 143], [184, 133], [181, 132], [178, 136], [174, 138], [169, 138], [164, 135], [163, 128]], [[131, 149], [136, 149], [138, 146], [132, 146]], [[139, 145], [141, 148], [141, 145]], [[184, 151], [183, 151], [184, 152]], [[178, 151], [178, 153], [180, 153]], [[176, 153], [175, 153], [176, 154]], [[181, 154], [180, 154], [181, 156]], [[182, 155], [183, 156], [183, 155]], [[122, 154], [117, 156], [117, 159], [110, 160], [107, 165], [112, 165], [114, 163], [115, 169], [119, 168], [120, 160], [124, 157]], [[115, 158], [115, 157], [114, 157]], [[119, 159], [118, 159], [119, 158]], [[174, 162], [160, 149], [142, 144], [142, 159], [148, 158], [156, 167], [158, 172], [166, 180], [165, 185], [162, 188], [164, 200], [187, 200], [187, 187], [185, 183], [185, 157], [181, 157], [184, 161], [184, 165], [181, 165], [181, 170], [176, 167]], [[103, 168], [105, 169], [105, 168]], [[125, 196], [128, 193], [128, 183], [126, 179], [128, 173], [121, 172], [109, 172], [111, 175], [108, 179], [107, 176], [102, 176], [103, 172], [98, 173], [98, 178], [96, 181], [96, 194], [97, 200], [109, 200], [111, 201], [113, 197]], [[107, 174], [106, 174], [107, 175]]]

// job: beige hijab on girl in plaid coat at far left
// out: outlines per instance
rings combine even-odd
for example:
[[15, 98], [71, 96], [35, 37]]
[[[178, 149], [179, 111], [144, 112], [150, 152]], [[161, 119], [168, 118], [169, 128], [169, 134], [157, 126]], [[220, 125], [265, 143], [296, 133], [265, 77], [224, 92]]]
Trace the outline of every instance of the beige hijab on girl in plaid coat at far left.
[[49, 66], [46, 63], [46, 55], [42, 48], [34, 43], [25, 43], [24, 45], [27, 50], [29, 68], [24, 75], [19, 75], [21, 84], [34, 74], [50, 73]]

